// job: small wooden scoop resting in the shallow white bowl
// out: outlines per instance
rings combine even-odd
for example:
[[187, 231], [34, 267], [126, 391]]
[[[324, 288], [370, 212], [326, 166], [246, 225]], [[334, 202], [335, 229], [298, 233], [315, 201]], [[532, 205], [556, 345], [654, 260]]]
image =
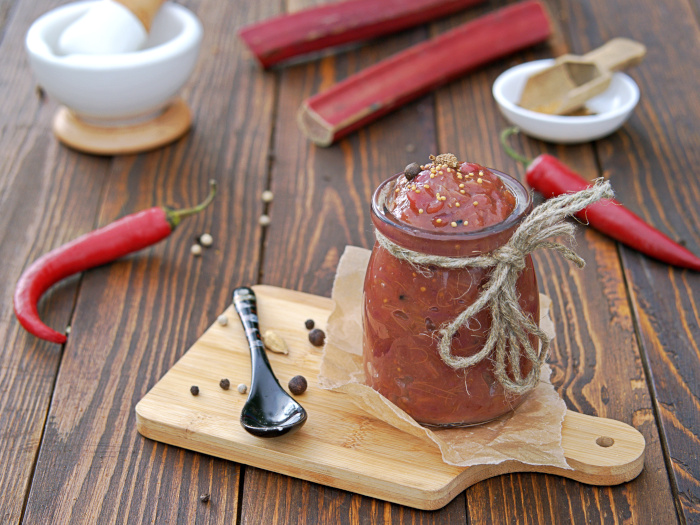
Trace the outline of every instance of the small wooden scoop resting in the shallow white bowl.
[[571, 113], [608, 89], [614, 71], [638, 64], [645, 54], [643, 44], [614, 38], [583, 56], [562, 55], [528, 78], [520, 106], [550, 115]]

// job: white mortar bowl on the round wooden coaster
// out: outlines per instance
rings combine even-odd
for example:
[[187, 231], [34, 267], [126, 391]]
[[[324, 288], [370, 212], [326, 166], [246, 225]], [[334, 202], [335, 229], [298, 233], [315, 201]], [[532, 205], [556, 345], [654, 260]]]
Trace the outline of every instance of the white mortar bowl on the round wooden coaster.
[[194, 69], [202, 41], [201, 23], [188, 9], [166, 3], [153, 20], [142, 50], [115, 55], [57, 54], [63, 30], [93, 4], [66, 4], [45, 13], [29, 28], [25, 44], [39, 84], [78, 117], [98, 125], [118, 125], [158, 113]]

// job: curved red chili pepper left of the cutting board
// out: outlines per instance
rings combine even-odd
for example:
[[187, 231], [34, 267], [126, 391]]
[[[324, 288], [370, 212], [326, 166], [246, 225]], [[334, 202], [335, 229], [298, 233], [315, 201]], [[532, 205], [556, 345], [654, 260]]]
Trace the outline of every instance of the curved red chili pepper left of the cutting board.
[[185, 210], [154, 207], [133, 213], [86, 233], [34, 261], [17, 282], [14, 295], [15, 315], [31, 334], [52, 343], [63, 344], [66, 336], [46, 326], [39, 318], [37, 303], [51, 286], [78, 272], [111, 262], [129, 253], [155, 244], [180, 224], [180, 221], [206, 208], [216, 194], [216, 181], [209, 181], [206, 200]]

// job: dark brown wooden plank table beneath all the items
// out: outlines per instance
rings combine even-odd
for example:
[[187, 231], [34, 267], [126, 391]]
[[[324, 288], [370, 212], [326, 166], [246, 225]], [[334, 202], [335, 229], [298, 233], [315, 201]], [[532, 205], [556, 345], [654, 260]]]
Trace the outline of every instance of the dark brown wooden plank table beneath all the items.
[[[409, 162], [451, 151], [523, 175], [498, 145], [491, 97], [511, 65], [592, 49], [614, 36], [648, 46], [630, 72], [642, 99], [616, 134], [553, 146], [589, 179], [700, 253], [700, 29], [696, 0], [548, 0], [560, 26], [542, 45], [405, 106], [327, 149], [297, 130], [300, 102], [378, 59], [506, 2], [354, 50], [261, 71], [242, 25], [313, 0], [186, 0], [205, 36], [182, 95], [192, 131], [152, 153], [96, 157], [60, 145], [55, 101], [40, 96], [23, 38], [58, 0], [0, 2], [0, 522], [2, 523], [700, 523], [700, 275], [670, 268], [581, 227], [578, 271], [537, 254], [554, 301], [553, 381], [570, 409], [638, 428], [645, 469], [616, 487], [518, 474], [479, 483], [421, 512], [165, 446], [136, 431], [134, 406], [202, 334], [239, 284], [329, 296], [347, 244], [370, 247], [373, 189]], [[285, 4], [280, 7], [280, 4]], [[507, 37], [507, 36], [505, 36]], [[189, 205], [214, 177], [214, 207], [167, 241], [66, 280], [42, 301], [60, 347], [12, 314], [20, 273], [46, 251], [158, 204]], [[266, 205], [260, 194], [270, 189]], [[269, 227], [258, 224], [268, 213]], [[214, 247], [190, 255], [209, 231]], [[236, 423], [237, 424], [237, 423]], [[210, 493], [207, 504], [199, 495]]]

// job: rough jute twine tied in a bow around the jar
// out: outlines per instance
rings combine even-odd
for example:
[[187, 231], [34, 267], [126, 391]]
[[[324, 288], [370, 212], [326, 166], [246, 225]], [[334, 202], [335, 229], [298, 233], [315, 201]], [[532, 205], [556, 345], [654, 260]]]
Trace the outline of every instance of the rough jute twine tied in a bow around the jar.
[[[579, 268], [583, 268], [584, 260], [573, 250], [549, 239], [567, 236], [571, 242], [575, 226], [564, 219], [600, 199], [612, 197], [610, 183], [598, 179], [588, 189], [545, 201], [523, 220], [505, 245], [489, 254], [476, 257], [428, 255], [403, 248], [378, 231], [375, 235], [380, 246], [397, 259], [406, 261], [416, 268], [431, 265], [448, 269], [493, 267], [491, 276], [477, 300], [453, 321], [440, 327], [438, 349], [445, 364], [455, 370], [470, 368], [484, 359], [492, 359], [496, 379], [504, 390], [512, 394], [523, 394], [537, 385], [540, 368], [547, 358], [550, 343], [549, 337], [523, 313], [518, 303], [515, 284], [520, 273], [525, 269], [525, 257], [539, 249], [554, 250]], [[383, 203], [380, 204], [383, 205]], [[486, 307], [491, 311], [491, 329], [484, 347], [469, 357], [452, 355], [454, 334]], [[535, 335], [541, 343], [537, 349], [530, 343], [531, 334]], [[532, 369], [525, 377], [520, 366], [521, 350], [532, 363]]]

